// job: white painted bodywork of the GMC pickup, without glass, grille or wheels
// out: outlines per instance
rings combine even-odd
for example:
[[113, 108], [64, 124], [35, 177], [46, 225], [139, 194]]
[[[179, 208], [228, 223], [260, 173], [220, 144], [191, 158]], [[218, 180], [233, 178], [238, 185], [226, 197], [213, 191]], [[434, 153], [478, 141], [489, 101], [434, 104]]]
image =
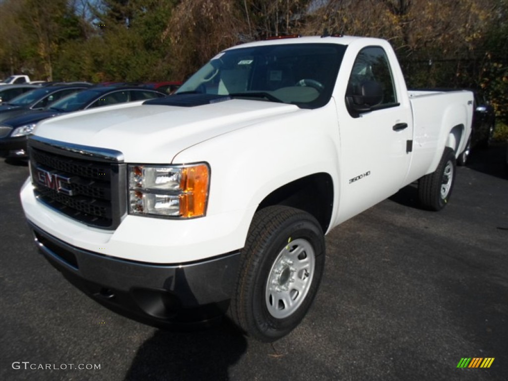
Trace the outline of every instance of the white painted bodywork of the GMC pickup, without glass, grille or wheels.
[[[208, 163], [205, 217], [168, 220], [129, 215], [114, 232], [107, 232], [45, 207], [35, 199], [28, 181], [21, 190], [26, 217], [86, 250], [141, 262], [185, 263], [241, 249], [258, 205], [293, 180], [315, 173], [330, 175], [334, 188], [330, 230], [433, 172], [450, 142], [450, 131], [458, 125], [464, 130], [456, 142], [461, 152], [470, 133], [472, 93], [408, 92], [395, 54], [383, 40], [301, 38], [257, 44], [303, 42], [348, 45], [332, 99], [322, 108], [251, 100], [191, 108], [136, 103], [72, 113], [38, 125], [38, 136], [118, 150], [125, 163]], [[345, 88], [357, 52], [371, 45], [387, 52], [399, 106], [353, 118], [345, 107]], [[408, 127], [393, 131], [393, 125], [401, 122]], [[407, 140], [414, 142], [412, 152], [406, 152]], [[349, 183], [367, 171], [369, 176]]]

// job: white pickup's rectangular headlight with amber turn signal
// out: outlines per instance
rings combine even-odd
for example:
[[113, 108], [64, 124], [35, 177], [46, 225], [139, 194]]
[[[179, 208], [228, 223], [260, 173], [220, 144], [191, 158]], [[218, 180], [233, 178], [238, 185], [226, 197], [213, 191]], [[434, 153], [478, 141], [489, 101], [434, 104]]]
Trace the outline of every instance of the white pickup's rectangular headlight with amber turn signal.
[[129, 165], [128, 171], [130, 214], [184, 218], [205, 214], [208, 165]]

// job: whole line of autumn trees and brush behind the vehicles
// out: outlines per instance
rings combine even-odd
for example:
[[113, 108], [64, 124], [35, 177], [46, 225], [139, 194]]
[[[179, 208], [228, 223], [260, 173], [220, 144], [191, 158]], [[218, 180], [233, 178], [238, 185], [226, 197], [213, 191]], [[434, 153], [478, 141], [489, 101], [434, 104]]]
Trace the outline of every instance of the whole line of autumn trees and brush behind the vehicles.
[[0, 0], [0, 73], [181, 80], [269, 36], [386, 38], [411, 87], [483, 90], [506, 119], [508, 0]]

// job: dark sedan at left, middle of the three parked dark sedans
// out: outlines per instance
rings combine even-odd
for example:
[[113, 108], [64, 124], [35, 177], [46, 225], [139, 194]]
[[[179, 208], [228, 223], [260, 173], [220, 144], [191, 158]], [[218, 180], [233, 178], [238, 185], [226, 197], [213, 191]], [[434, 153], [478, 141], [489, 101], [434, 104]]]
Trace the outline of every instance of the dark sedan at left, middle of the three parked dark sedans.
[[89, 87], [85, 84], [50, 85], [25, 92], [8, 103], [0, 105], [0, 122], [21, 115], [28, 110], [42, 110], [60, 98]]

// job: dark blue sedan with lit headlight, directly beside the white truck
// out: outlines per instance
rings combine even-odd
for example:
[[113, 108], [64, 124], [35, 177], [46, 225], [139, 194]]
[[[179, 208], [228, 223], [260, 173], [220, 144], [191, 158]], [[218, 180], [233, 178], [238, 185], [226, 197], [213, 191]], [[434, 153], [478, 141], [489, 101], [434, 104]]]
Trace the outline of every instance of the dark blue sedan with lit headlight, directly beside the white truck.
[[162, 98], [165, 95], [160, 91], [138, 86], [99, 86], [75, 92], [53, 102], [44, 110], [27, 110], [18, 116], [0, 122], [0, 155], [25, 158], [27, 136], [43, 119], [94, 107]]

